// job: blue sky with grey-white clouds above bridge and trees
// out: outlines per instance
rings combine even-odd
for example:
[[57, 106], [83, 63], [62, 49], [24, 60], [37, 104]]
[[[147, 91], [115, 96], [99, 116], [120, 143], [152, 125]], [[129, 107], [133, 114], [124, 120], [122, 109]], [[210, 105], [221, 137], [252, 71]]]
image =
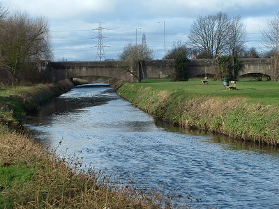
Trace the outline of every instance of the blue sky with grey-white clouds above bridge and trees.
[[[162, 59], [175, 42], [187, 42], [199, 15], [241, 15], [246, 47], [267, 51], [262, 32], [279, 12], [278, 0], [0, 0], [10, 12], [45, 17], [54, 61], [97, 61], [99, 40], [104, 59], [118, 59], [128, 44], [142, 42]], [[164, 28], [165, 25], [165, 28]], [[101, 28], [98, 30], [98, 28]], [[101, 34], [99, 33], [101, 32]], [[102, 38], [98, 38], [101, 35]]]

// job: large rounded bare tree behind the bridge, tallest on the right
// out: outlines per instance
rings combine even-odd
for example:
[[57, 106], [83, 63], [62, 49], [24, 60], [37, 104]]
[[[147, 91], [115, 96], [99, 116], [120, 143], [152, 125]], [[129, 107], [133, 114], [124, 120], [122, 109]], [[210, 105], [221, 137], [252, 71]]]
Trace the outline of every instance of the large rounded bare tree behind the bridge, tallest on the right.
[[230, 19], [227, 13], [199, 16], [190, 29], [190, 45], [198, 52], [209, 53], [208, 58], [217, 54], [229, 54], [243, 43], [243, 26], [240, 17]]

